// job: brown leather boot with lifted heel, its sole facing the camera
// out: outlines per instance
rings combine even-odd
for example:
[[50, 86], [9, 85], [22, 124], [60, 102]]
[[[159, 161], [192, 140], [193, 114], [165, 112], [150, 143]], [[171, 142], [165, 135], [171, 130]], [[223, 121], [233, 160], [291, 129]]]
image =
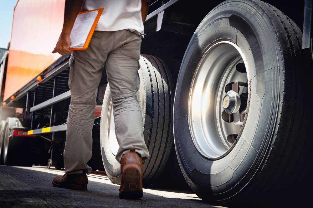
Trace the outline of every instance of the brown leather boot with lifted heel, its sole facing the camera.
[[131, 151], [125, 153], [121, 159], [121, 187], [120, 198], [140, 199], [142, 192], [142, 158], [131, 147]]

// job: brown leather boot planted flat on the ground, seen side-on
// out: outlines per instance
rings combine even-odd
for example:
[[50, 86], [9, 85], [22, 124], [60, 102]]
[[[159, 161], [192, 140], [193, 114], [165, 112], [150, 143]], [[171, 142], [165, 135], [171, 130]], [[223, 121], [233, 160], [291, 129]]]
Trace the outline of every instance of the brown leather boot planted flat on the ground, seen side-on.
[[52, 181], [52, 185], [59, 188], [68, 188], [75, 190], [87, 190], [88, 178], [86, 173], [67, 174], [56, 176]]

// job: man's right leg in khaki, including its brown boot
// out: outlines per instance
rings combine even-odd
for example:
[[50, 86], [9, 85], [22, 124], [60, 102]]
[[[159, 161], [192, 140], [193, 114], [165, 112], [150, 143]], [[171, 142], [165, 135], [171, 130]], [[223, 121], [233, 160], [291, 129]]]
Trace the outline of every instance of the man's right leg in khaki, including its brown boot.
[[141, 37], [129, 30], [113, 34], [119, 47], [109, 53], [105, 69], [112, 95], [115, 133], [120, 144], [116, 154], [116, 160], [121, 162], [122, 175], [119, 197], [139, 199], [143, 196], [142, 158], [149, 157], [136, 96], [140, 84]]

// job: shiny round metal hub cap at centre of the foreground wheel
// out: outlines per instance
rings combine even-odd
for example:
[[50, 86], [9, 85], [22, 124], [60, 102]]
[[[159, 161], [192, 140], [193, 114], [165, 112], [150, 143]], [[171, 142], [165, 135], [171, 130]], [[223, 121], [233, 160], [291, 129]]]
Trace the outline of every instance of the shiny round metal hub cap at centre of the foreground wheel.
[[237, 113], [240, 107], [240, 95], [233, 90], [228, 91], [223, 99], [223, 108], [228, 114]]

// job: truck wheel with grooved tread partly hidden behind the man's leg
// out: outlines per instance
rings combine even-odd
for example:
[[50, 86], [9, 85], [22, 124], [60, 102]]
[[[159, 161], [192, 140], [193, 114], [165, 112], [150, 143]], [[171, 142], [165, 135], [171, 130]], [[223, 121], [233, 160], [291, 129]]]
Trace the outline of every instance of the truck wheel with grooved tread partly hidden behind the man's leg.
[[[157, 57], [142, 55], [139, 60], [140, 89], [137, 97], [143, 112], [144, 137], [150, 158], [143, 162], [143, 183], [150, 185], [163, 171], [173, 145], [173, 81], [165, 63]], [[121, 166], [115, 154], [115, 137], [110, 86], [105, 90], [101, 112], [100, 141], [105, 172], [113, 183], [121, 181]]]

